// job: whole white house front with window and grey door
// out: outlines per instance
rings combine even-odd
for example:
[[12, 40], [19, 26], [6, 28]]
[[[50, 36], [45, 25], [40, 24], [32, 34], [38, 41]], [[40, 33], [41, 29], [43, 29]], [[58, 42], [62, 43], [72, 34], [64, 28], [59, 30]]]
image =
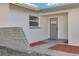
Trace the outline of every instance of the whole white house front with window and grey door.
[[22, 4], [0, 4], [0, 27], [22, 27], [30, 43], [68, 40], [79, 46], [79, 4], [37, 10]]

